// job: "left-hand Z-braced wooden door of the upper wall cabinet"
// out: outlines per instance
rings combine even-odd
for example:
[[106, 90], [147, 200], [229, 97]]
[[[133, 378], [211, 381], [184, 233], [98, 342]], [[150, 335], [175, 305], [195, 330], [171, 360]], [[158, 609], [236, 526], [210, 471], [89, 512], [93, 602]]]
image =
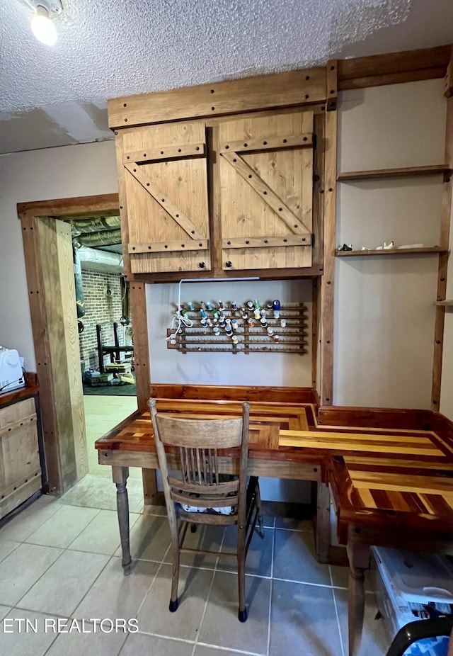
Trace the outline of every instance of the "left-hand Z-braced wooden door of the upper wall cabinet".
[[200, 121], [125, 131], [132, 273], [211, 268], [205, 134]]

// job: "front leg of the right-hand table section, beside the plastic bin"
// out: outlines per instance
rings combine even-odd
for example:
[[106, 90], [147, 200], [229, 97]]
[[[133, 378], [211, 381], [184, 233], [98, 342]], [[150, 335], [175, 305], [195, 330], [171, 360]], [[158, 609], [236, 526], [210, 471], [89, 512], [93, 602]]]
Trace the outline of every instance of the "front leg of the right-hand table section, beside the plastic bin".
[[[351, 527], [350, 527], [351, 528]], [[348, 540], [348, 639], [349, 656], [357, 656], [365, 613], [365, 570], [369, 568], [369, 545]]]

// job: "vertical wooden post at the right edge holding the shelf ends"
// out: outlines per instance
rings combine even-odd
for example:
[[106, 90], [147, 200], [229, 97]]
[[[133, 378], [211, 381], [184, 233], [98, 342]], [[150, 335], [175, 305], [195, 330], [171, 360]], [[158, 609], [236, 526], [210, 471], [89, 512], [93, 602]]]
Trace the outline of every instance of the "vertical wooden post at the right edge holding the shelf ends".
[[[449, 72], [453, 69], [453, 48], [452, 59], [449, 62]], [[445, 94], [447, 95], [447, 94]], [[445, 129], [445, 165], [453, 168], [453, 96], [447, 95], [447, 125]], [[450, 225], [452, 221], [453, 210], [453, 193], [452, 193], [452, 175], [447, 172], [444, 176], [444, 185], [442, 190], [442, 215], [440, 218], [440, 247], [442, 253], [439, 256], [439, 268], [437, 273], [437, 298], [436, 300], [445, 300], [447, 293], [447, 268], [448, 268], [448, 249]], [[436, 412], [440, 411], [440, 385], [442, 380], [442, 353], [444, 341], [444, 324], [445, 324], [445, 306], [436, 306], [435, 332], [434, 332], [434, 358], [432, 362], [432, 391], [431, 391], [431, 409]]]

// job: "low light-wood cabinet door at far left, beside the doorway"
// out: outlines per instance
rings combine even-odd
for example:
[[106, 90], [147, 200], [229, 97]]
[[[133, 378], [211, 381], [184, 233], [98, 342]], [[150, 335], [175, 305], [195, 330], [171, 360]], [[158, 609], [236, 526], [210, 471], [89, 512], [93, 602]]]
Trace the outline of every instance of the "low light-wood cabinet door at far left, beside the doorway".
[[0, 518], [41, 487], [35, 399], [0, 409]]

